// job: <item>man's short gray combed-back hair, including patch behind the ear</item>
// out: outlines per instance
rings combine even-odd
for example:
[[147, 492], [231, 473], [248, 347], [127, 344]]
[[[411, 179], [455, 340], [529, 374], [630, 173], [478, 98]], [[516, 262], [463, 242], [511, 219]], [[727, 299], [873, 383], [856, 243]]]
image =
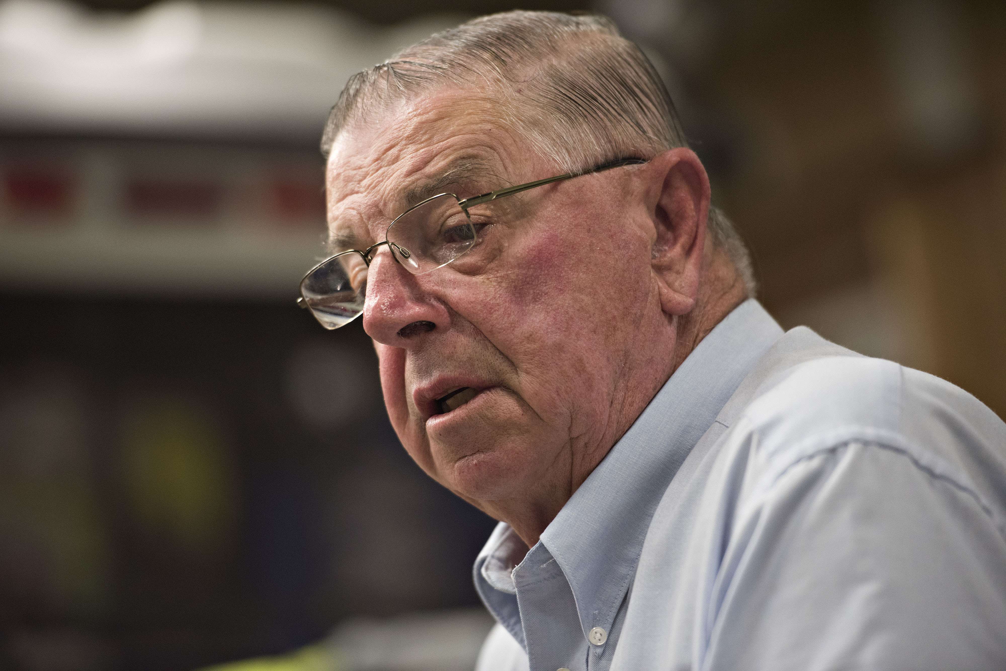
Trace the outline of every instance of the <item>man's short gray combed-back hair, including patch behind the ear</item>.
[[[660, 74], [611, 19], [511, 11], [432, 35], [354, 74], [329, 115], [322, 153], [367, 110], [446, 84], [489, 91], [500, 123], [563, 172], [688, 146]], [[753, 296], [750, 255], [716, 207], [708, 230]]]

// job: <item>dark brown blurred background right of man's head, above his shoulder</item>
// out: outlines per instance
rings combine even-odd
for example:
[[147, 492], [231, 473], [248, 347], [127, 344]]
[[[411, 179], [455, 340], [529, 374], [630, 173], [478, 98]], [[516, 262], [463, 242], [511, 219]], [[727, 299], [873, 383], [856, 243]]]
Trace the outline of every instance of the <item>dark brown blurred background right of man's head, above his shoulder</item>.
[[1006, 414], [1006, 4], [604, 8], [665, 59], [783, 324]]

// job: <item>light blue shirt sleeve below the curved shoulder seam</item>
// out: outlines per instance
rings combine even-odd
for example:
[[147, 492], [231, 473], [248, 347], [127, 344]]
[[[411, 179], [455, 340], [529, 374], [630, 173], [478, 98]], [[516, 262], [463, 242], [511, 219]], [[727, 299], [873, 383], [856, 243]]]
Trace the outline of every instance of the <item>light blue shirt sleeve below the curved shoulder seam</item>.
[[966, 483], [848, 443], [738, 504], [702, 668], [1006, 669], [1006, 540]]

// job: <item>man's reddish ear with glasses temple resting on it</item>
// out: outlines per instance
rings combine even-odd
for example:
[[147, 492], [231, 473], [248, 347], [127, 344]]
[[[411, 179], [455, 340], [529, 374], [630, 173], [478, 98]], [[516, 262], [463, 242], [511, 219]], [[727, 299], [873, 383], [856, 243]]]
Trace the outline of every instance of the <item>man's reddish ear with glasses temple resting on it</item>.
[[654, 226], [651, 267], [669, 315], [687, 314], [698, 300], [709, 214], [709, 178], [690, 149], [659, 154], [647, 165], [645, 203]]

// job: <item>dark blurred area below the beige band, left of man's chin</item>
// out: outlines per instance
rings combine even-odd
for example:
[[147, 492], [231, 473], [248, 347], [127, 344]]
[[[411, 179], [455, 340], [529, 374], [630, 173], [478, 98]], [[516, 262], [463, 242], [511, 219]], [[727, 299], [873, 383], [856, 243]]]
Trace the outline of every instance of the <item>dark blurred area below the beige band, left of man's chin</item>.
[[491, 521], [400, 449], [358, 330], [292, 300], [0, 310], [11, 668], [194, 668], [477, 602]]

